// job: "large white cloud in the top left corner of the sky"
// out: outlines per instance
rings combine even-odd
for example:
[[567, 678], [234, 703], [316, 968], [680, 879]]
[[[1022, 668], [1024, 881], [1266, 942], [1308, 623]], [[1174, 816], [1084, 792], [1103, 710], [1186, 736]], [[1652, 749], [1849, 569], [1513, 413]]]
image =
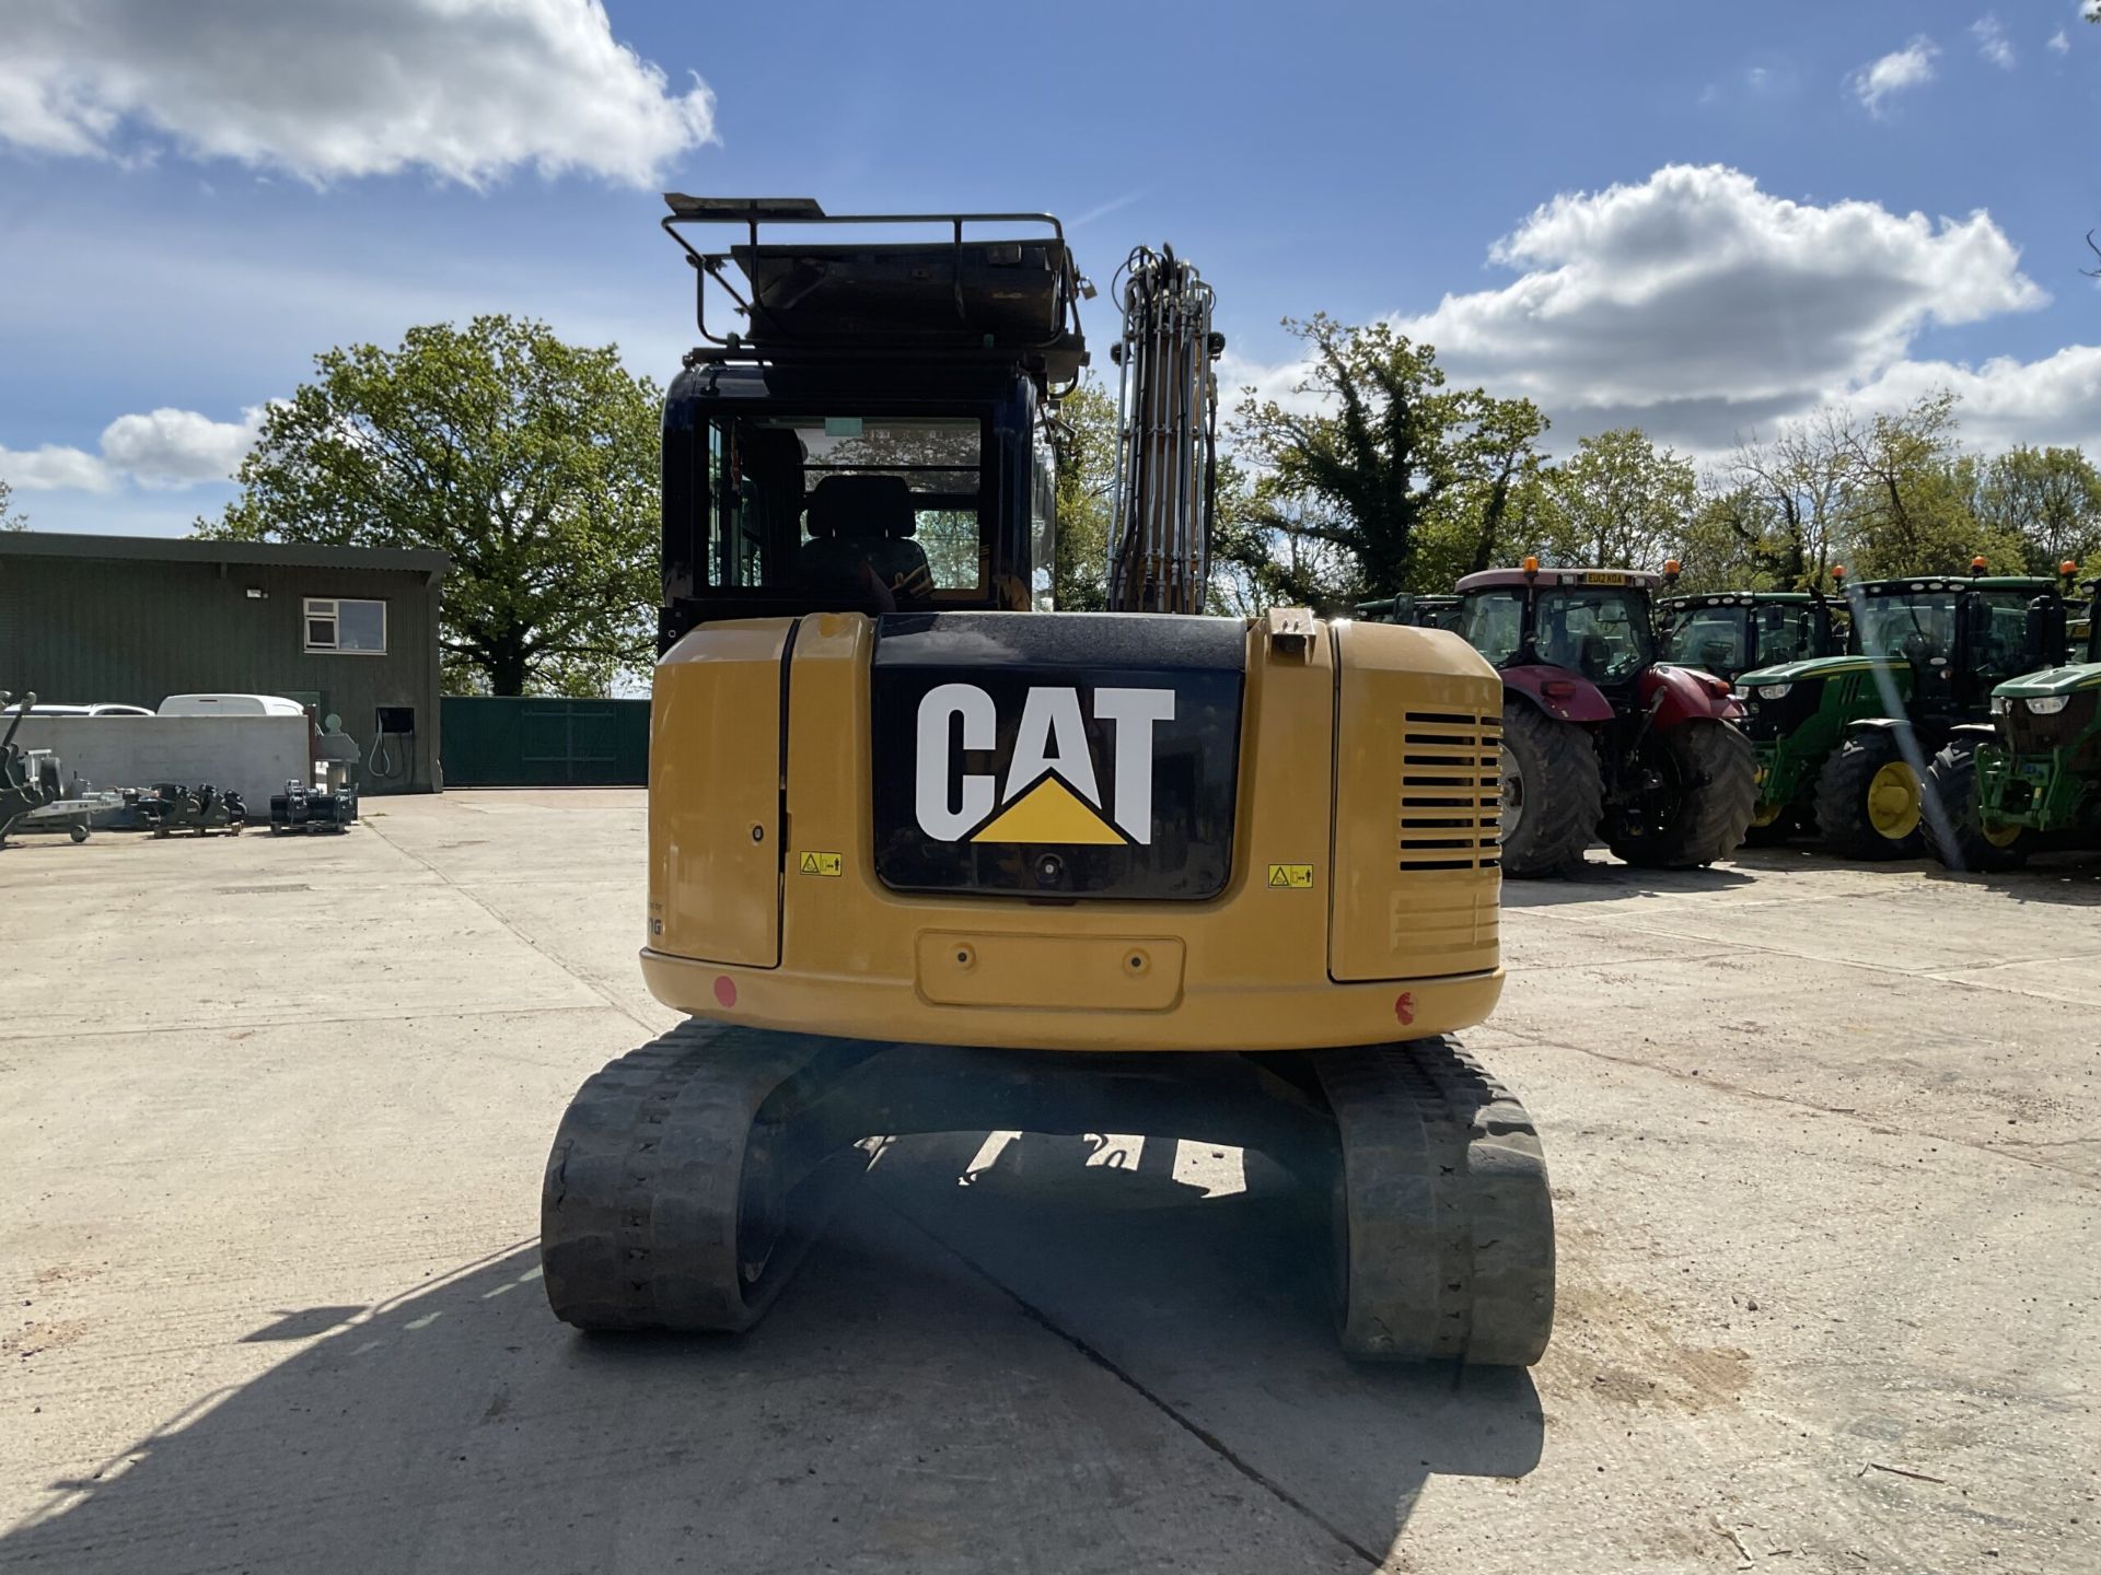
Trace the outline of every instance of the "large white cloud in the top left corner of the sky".
[[11, 6], [0, 50], [0, 143], [42, 153], [647, 185], [712, 134], [708, 86], [672, 92], [599, 0], [65, 0]]

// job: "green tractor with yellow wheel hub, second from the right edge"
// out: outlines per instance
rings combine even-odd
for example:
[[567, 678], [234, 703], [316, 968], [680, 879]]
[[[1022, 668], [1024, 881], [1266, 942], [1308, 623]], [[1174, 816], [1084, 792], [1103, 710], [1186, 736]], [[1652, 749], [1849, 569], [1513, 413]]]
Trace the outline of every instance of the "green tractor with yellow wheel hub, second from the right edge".
[[1847, 655], [1738, 678], [1759, 752], [1754, 842], [1813, 832], [1849, 859], [1925, 846], [1927, 762], [1992, 691], [2065, 659], [2065, 601], [2044, 575], [1906, 575], [1847, 592]]

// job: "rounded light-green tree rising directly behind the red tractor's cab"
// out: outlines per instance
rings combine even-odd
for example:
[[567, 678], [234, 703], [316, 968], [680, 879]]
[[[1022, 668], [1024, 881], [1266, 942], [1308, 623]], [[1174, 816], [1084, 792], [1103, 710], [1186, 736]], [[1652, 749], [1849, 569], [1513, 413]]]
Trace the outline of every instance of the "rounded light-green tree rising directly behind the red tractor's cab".
[[1658, 569], [1685, 536], [1700, 483], [1691, 460], [1622, 426], [1576, 445], [1546, 477], [1555, 502], [1546, 550], [1561, 563]]

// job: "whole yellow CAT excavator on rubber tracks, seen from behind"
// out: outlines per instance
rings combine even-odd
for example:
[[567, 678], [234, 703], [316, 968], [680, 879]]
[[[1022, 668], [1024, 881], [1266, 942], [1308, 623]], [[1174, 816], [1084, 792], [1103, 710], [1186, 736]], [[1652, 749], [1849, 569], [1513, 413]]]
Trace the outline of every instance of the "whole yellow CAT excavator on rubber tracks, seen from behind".
[[1118, 1132], [1324, 1189], [1351, 1354], [1538, 1361], [1538, 1136], [1448, 1037], [1502, 989], [1502, 682], [1441, 630], [1204, 615], [1210, 288], [1118, 275], [1111, 611], [1061, 613], [1059, 220], [666, 202], [700, 344], [643, 972], [689, 1021], [561, 1119], [555, 1315], [746, 1329], [872, 1140]]

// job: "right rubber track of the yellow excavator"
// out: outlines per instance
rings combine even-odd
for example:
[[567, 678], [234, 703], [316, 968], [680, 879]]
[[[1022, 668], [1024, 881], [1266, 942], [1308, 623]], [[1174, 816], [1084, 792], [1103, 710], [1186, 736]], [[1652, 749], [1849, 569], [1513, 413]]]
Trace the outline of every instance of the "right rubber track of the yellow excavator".
[[1343, 1138], [1343, 1350], [1530, 1367], [1555, 1218], [1525, 1107], [1450, 1040], [1313, 1056]]

